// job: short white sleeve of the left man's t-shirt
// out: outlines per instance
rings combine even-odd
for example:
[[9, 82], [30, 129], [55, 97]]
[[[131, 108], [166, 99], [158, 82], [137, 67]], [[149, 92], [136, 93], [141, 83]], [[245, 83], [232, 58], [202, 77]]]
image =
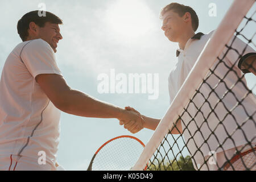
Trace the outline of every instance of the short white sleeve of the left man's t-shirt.
[[34, 78], [40, 74], [57, 74], [62, 76], [56, 64], [53, 49], [42, 39], [28, 42], [20, 52], [20, 59]]

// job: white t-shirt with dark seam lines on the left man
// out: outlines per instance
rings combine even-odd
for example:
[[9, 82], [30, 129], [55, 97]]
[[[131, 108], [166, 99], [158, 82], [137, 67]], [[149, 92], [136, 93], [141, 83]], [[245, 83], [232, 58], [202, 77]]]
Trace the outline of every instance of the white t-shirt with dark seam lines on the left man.
[[60, 110], [35, 77], [61, 75], [52, 48], [42, 39], [22, 42], [7, 57], [0, 81], [0, 155], [38, 159], [39, 151], [55, 166]]

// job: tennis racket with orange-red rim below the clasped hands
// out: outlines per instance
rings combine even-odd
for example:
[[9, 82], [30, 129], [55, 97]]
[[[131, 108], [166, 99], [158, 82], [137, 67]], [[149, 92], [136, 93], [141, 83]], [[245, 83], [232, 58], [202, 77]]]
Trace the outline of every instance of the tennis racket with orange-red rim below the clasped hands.
[[[129, 171], [144, 147], [141, 140], [129, 135], [110, 139], [98, 148], [87, 171]], [[146, 169], [147, 166], [144, 170]]]

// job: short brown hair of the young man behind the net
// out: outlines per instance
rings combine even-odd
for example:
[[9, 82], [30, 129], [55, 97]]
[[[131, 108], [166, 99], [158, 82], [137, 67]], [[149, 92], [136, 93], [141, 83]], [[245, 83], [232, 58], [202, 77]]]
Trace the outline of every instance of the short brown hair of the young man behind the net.
[[160, 18], [163, 18], [163, 15], [167, 12], [167, 11], [174, 11], [175, 13], [179, 14], [179, 16], [183, 16], [185, 13], [190, 13], [191, 14], [191, 19], [192, 19], [192, 28], [194, 31], [197, 30], [198, 26], [199, 26], [199, 19], [198, 16], [196, 14], [196, 11], [192, 9], [192, 7], [189, 6], [185, 6], [185, 5], [180, 5], [179, 3], [171, 3], [170, 5], [167, 5], [166, 7], [164, 7], [160, 13]]

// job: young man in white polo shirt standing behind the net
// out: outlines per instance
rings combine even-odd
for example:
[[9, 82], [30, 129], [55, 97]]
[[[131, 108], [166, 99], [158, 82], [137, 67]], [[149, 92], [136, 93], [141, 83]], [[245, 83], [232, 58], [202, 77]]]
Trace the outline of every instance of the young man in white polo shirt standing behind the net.
[[[199, 19], [195, 11], [191, 7], [180, 5], [179, 3], [171, 3], [164, 7], [161, 16], [163, 19], [162, 30], [164, 31], [164, 35], [166, 35], [171, 42], [179, 43], [179, 49], [177, 49], [176, 52], [177, 63], [168, 78], [171, 104], [201, 51], [205, 47], [205, 44], [212, 36], [213, 31], [209, 34], [203, 34], [201, 32], [195, 34], [195, 31], [199, 26]], [[233, 39], [234, 36], [232, 40]], [[226, 51], [227, 48], [222, 51], [220, 57], [224, 57]], [[238, 53], [236, 51], [238, 51]], [[236, 63], [239, 58], [238, 54], [242, 55], [242, 58]], [[226, 65], [218, 65], [214, 70], [214, 75], [208, 78], [208, 84], [201, 86], [200, 92], [204, 97], [201, 94], [197, 94], [195, 98], [193, 98], [193, 104], [189, 105], [188, 112], [185, 112], [181, 117], [183, 122], [181, 123], [179, 120], [176, 123], [174, 130], [172, 130], [172, 134], [183, 133], [186, 146], [193, 156], [192, 162], [195, 169], [217, 170], [218, 167], [221, 167], [222, 164], [226, 162], [225, 155], [228, 156], [228, 158], [232, 157], [236, 152], [236, 148], [241, 148], [241, 146], [247, 144], [247, 141], [250, 141], [251, 146], [255, 147], [256, 99], [253, 93], [248, 92], [245, 77], [242, 77], [242, 72], [252, 72], [255, 75], [255, 55], [256, 53], [253, 48], [250, 46], [246, 47], [246, 44], [242, 42], [242, 40], [236, 38], [232, 43], [232, 49], [228, 51], [223, 59]], [[233, 71], [229, 72], [229, 68], [232, 67]], [[237, 100], [232, 93], [228, 93], [222, 99], [225, 107], [223, 104], [217, 105], [219, 98], [221, 98], [227, 91], [225, 84], [219, 84], [218, 87], [214, 89], [214, 92], [218, 94], [218, 96], [216, 96], [216, 94], [211, 94], [208, 98], [209, 93], [212, 91], [209, 86], [214, 88], [219, 81], [217, 77], [222, 78], [228, 88], [231, 88], [231, 86], [237, 82], [238, 77], [241, 78], [241, 82], [238, 82], [233, 86], [232, 92], [238, 100], [241, 101], [242, 106], [236, 106]], [[248, 93], [246, 98], [243, 98], [246, 93]], [[211, 110], [208, 104], [204, 104], [205, 98], [207, 98], [211, 107], [216, 106], [214, 108], [214, 113], [217, 113], [217, 117], [220, 117], [219, 119], [217, 119], [214, 114], [210, 114]], [[196, 107], [201, 107], [201, 112], [199, 114], [196, 113], [198, 111]], [[126, 109], [136, 111], [132, 107], [126, 107]], [[227, 110], [232, 111], [228, 116], [225, 116], [225, 114], [229, 112]], [[190, 115], [188, 115], [188, 113]], [[204, 117], [202, 115], [204, 115]], [[248, 115], [251, 116], [251, 119], [245, 124], [242, 124], [243, 121], [246, 121]], [[147, 129], [155, 130], [160, 122], [160, 119], [149, 118], [144, 115], [142, 117], [145, 121], [144, 127]], [[243, 132], [239, 129], [236, 130], [237, 123], [234, 121], [233, 117], [236, 118], [236, 121], [241, 126]], [[204, 122], [204, 118], [207, 118], [208, 124]], [[222, 120], [221, 125], [219, 125], [220, 120]], [[120, 122], [120, 124], [122, 125], [123, 123]], [[133, 125], [127, 123], [124, 127], [130, 129]], [[213, 135], [209, 129], [214, 131], [215, 135]], [[235, 132], [233, 133], [233, 131]], [[233, 133], [232, 139], [228, 138], [227, 133]], [[205, 141], [207, 141], [207, 143], [205, 143]], [[221, 144], [221, 147], [219, 147], [219, 144]], [[209, 152], [212, 151], [216, 152], [218, 166], [209, 165], [209, 163], [204, 164], [205, 161], [208, 161], [207, 159], [210, 156]]]

